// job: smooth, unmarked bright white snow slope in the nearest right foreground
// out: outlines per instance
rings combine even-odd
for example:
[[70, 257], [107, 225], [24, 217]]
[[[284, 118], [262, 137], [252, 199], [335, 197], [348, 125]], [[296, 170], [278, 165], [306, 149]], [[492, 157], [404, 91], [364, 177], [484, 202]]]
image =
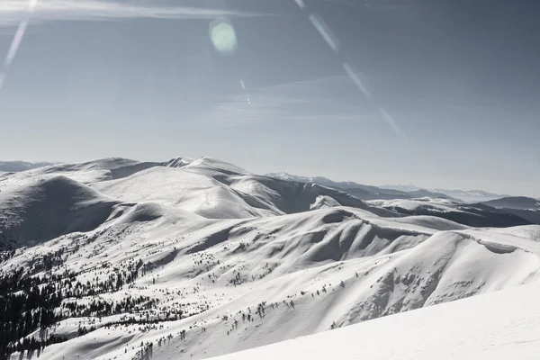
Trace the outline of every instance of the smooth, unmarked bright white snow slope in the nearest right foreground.
[[410, 311], [216, 360], [536, 360], [537, 284]]

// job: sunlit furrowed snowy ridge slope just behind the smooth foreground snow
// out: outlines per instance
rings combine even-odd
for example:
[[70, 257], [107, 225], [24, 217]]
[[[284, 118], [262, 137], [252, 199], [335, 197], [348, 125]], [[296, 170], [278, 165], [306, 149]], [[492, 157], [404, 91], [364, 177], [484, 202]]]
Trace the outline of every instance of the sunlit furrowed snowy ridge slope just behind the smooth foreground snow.
[[[195, 311], [193, 315], [162, 321], [163, 328], [143, 333], [137, 332], [137, 324], [103, 328], [119, 319], [103, 317], [95, 320], [98, 329], [91, 334], [47, 347], [42, 356], [131, 359], [141, 350], [141, 341], [153, 341], [153, 359], [203, 358], [323, 331], [333, 323], [347, 326], [538, 281], [540, 227], [438, 231], [419, 228], [415, 218], [401, 225], [376, 217], [360, 222], [349, 212], [354, 214], [353, 210], [322, 210], [316, 217], [302, 213], [220, 222], [198, 227], [187, 242], [139, 241], [147, 254], [143, 261], [152, 259], [159, 267], [133, 287], [101, 298], [119, 302], [124, 293], [140, 291], [160, 299], [154, 317], [163, 319], [167, 309], [177, 309], [179, 304], [185, 311]], [[356, 221], [365, 225], [351, 233]], [[154, 229], [162, 231], [163, 226], [161, 222]], [[318, 227], [326, 235], [318, 236]], [[371, 227], [374, 230], [368, 230]], [[352, 242], [344, 237], [355, 232]], [[94, 240], [95, 246], [100, 241]], [[122, 248], [128, 243], [122, 242]], [[173, 246], [175, 257], [170, 256]], [[114, 257], [99, 261], [107, 258]], [[99, 264], [97, 259], [88, 260]], [[151, 279], [157, 279], [155, 284]], [[259, 317], [257, 304], [263, 302], [265, 314]], [[144, 319], [145, 312], [130, 316]], [[242, 314], [255, 319], [247, 322]], [[90, 326], [86, 321], [82, 323]], [[64, 320], [55, 333], [74, 331], [74, 325], [73, 320]], [[178, 336], [183, 329], [185, 340]], [[90, 351], [90, 344], [101, 345]]]

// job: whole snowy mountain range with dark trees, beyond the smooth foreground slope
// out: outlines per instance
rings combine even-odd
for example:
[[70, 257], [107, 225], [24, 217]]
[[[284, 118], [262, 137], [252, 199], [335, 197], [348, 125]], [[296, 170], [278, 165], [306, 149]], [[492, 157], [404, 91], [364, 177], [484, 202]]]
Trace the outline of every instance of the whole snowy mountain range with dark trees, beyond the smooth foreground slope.
[[220, 356], [540, 279], [540, 226], [495, 228], [527, 223], [504, 211], [211, 157], [46, 166], [0, 190], [13, 360]]

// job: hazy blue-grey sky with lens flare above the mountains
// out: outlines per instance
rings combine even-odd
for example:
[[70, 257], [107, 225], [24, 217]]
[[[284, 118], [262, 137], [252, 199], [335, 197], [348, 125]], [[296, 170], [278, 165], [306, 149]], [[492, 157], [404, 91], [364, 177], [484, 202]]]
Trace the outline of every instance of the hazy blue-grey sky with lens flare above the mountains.
[[208, 155], [540, 197], [538, 14], [537, 0], [1, 0], [0, 159]]

